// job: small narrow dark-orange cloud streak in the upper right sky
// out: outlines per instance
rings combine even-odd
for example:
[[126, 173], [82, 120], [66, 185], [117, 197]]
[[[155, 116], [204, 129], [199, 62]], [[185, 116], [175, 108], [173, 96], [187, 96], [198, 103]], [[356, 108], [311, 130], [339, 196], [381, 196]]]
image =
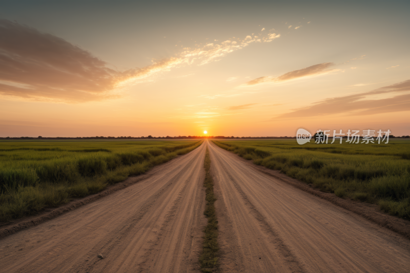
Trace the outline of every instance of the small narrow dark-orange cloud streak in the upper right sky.
[[269, 76], [256, 78], [256, 79], [246, 82], [245, 85], [251, 86], [251, 85], [257, 85], [258, 83], [263, 83], [263, 82], [280, 82], [280, 81], [292, 80], [292, 79], [301, 78], [301, 77], [318, 76], [318, 75], [330, 74], [330, 73], [341, 71], [341, 69], [329, 69], [333, 65], [334, 65], [333, 62], [323, 62], [323, 64], [318, 64], [318, 65], [306, 67], [303, 69], [294, 70], [294, 71], [285, 73], [276, 78], [269, 77]]

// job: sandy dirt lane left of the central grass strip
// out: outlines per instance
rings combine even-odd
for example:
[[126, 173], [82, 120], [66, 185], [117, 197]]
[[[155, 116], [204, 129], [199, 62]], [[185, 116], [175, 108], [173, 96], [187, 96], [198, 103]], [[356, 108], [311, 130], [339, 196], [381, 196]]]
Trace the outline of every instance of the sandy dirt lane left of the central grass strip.
[[205, 150], [202, 144], [124, 190], [1, 239], [0, 272], [198, 272]]

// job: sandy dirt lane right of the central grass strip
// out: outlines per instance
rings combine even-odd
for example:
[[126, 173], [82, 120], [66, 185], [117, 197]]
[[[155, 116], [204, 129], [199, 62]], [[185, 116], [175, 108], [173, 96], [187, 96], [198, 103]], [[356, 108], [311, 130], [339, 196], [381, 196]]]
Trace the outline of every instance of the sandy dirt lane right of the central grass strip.
[[410, 241], [209, 143], [223, 272], [409, 272]]

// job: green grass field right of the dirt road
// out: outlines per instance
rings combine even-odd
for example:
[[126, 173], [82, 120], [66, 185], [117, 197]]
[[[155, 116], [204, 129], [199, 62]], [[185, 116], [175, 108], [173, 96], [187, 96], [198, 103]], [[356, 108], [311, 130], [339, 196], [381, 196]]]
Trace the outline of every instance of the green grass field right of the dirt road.
[[410, 218], [410, 141], [388, 144], [297, 144], [286, 140], [216, 140], [257, 165], [279, 170], [343, 198], [376, 203]]

